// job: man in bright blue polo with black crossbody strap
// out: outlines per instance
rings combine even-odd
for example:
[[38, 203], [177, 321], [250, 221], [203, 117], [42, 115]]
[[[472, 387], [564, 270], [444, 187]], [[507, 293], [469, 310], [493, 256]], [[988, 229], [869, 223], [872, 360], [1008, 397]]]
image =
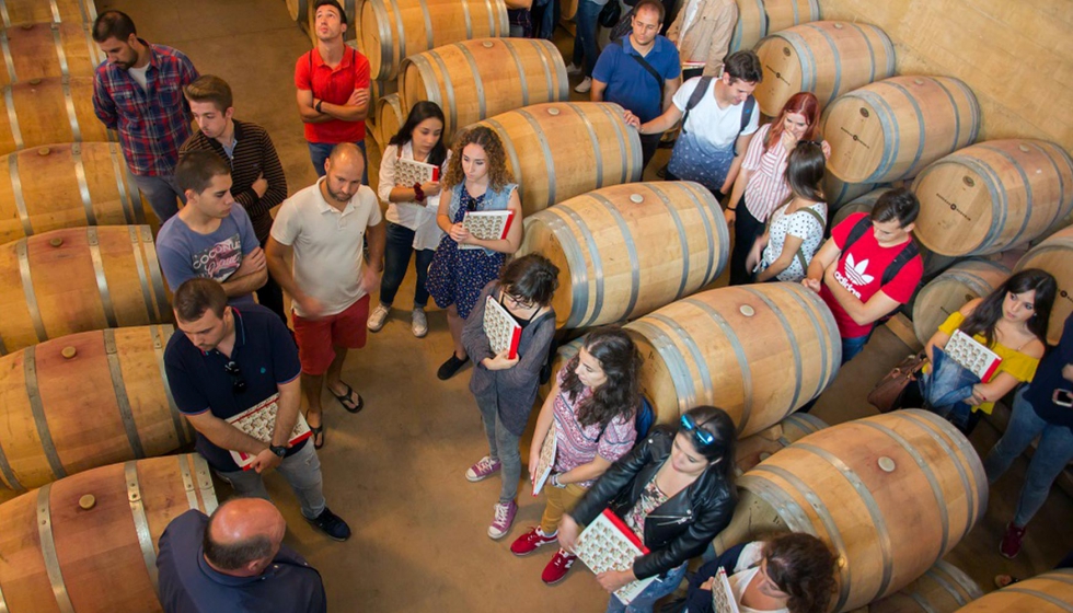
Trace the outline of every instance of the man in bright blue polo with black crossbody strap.
[[[659, 34], [664, 5], [639, 0], [634, 7], [628, 36], [604, 47], [592, 70], [592, 102], [614, 102], [641, 118], [659, 117], [682, 84], [682, 63], [674, 44]], [[642, 169], [659, 148], [661, 134], [642, 135]]]

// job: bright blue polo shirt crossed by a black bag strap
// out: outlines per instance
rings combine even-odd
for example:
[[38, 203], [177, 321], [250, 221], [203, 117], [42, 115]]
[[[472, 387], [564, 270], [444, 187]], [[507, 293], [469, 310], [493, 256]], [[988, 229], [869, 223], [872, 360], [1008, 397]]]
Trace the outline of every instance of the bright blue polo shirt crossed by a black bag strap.
[[[592, 78], [608, 84], [603, 90], [604, 101], [622, 105], [639, 117], [642, 123], [651, 122], [662, 115], [664, 111], [664, 101], [659, 96], [660, 83], [636, 59], [626, 57], [627, 55], [641, 55], [630, 44], [628, 34], [622, 37], [621, 45], [612, 43], [603, 48], [592, 70]], [[664, 81], [682, 73], [678, 49], [664, 36], [656, 36], [651, 50], [644, 59], [656, 69]]]

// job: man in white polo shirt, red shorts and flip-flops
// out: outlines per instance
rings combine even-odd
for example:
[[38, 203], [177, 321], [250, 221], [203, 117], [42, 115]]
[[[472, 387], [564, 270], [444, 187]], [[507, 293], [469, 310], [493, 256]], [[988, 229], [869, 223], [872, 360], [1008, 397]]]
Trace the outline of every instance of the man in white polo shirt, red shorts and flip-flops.
[[[295, 309], [295, 336], [302, 361], [305, 419], [313, 444], [324, 444], [321, 389], [350, 413], [365, 401], [344, 383], [348, 349], [366, 342], [369, 290], [380, 284], [385, 244], [377, 194], [361, 185], [365, 159], [353, 143], [335, 147], [326, 174], [279, 208], [268, 238], [268, 270]], [[362, 244], [369, 243], [364, 262]], [[287, 259], [293, 257], [293, 269]]]

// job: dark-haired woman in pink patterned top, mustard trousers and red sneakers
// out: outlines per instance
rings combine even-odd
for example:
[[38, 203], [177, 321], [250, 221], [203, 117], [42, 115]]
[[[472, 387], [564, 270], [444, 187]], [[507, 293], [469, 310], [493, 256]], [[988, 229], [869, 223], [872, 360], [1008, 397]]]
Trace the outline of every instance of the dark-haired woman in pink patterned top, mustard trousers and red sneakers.
[[[589, 333], [578, 354], [558, 371], [540, 409], [529, 451], [529, 478], [535, 482], [544, 439], [555, 437], [555, 463], [543, 488], [547, 504], [540, 525], [510, 545], [515, 555], [528, 555], [556, 542], [563, 513], [633, 448], [641, 405], [639, 368], [641, 355], [633, 340], [622, 328], [611, 326]], [[562, 581], [576, 559], [559, 548], [541, 579], [550, 586]]]

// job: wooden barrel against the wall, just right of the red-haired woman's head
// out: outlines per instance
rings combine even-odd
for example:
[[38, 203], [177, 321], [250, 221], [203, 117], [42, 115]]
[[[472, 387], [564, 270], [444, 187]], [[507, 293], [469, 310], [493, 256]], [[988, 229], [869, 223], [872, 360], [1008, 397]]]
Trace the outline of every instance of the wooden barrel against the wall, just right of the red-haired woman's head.
[[827, 167], [849, 183], [916, 175], [927, 164], [972, 144], [980, 104], [950, 77], [893, 77], [840, 96], [823, 113], [831, 143]]

